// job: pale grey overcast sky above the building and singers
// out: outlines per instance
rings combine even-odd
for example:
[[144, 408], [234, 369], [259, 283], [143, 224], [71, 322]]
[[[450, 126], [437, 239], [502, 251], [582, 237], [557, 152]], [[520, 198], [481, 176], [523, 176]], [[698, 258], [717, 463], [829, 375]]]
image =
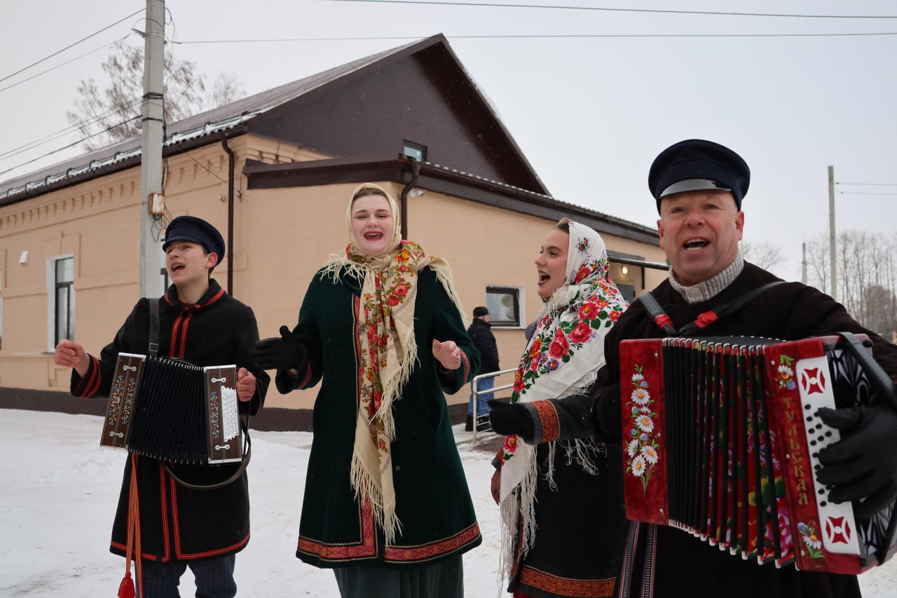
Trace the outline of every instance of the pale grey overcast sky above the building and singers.
[[[132, 27], [143, 30], [143, 13], [13, 73], [145, 6], [144, 0], [3, 4], [0, 171], [75, 140], [69, 134], [9, 154], [67, 128], [65, 110], [74, 107], [76, 85], [102, 79], [105, 46], [125, 38]], [[897, 6], [892, 2], [448, 4], [168, 0], [167, 36], [179, 43], [167, 48], [195, 61], [210, 79], [233, 71], [246, 92], [255, 93], [443, 33], [555, 198], [653, 227], [657, 212], [646, 182], [650, 163], [667, 145], [701, 137], [728, 145], [751, 166], [745, 239], [779, 246], [788, 257], [779, 276], [799, 279], [801, 243], [827, 233], [830, 164], [839, 183], [836, 229], [893, 235]], [[730, 14], [689, 13], [714, 11]], [[134, 34], [128, 41], [143, 44]], [[54, 154], [0, 180], [68, 155]]]

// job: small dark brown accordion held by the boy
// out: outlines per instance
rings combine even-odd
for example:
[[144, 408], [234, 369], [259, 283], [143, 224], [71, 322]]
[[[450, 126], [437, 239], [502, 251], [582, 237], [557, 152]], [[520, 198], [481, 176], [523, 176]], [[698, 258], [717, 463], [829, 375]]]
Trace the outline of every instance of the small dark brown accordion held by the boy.
[[241, 462], [235, 365], [120, 353], [100, 446], [176, 463]]

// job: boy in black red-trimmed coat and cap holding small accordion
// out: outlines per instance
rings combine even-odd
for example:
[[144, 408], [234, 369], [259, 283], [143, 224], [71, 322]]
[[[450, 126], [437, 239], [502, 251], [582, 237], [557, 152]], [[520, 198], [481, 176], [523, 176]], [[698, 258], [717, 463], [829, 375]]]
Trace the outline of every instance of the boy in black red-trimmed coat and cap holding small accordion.
[[[159, 355], [193, 365], [238, 365], [239, 412], [255, 415], [262, 409], [270, 378], [249, 357], [258, 340], [255, 314], [211, 277], [224, 259], [221, 233], [201, 218], [178, 216], [165, 230], [162, 249], [172, 282], [159, 300]], [[108, 397], [118, 354], [147, 354], [150, 301], [156, 300], [144, 297], [136, 303], [99, 359], [72, 340], [59, 342], [54, 362], [72, 368], [74, 396]], [[128, 455], [109, 550], [128, 561], [132, 551], [139, 555], [135, 556], [141, 572], [137, 594], [146, 598], [179, 595], [180, 576], [187, 567], [196, 579], [197, 596], [237, 595], [235, 555], [249, 541], [246, 472], [223, 488], [200, 490], [181, 486], [163, 465], [149, 457]], [[239, 466], [169, 467], [192, 485], [211, 486], [231, 477]], [[134, 529], [139, 530], [139, 544]], [[134, 592], [129, 562], [127, 568], [119, 595]]]

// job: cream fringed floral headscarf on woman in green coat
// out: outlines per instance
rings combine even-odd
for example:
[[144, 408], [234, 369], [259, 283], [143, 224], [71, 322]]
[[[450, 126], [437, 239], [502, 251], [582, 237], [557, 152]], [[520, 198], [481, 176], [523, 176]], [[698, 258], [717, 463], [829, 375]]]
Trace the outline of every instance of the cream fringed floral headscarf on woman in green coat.
[[[392, 242], [382, 256], [361, 251], [352, 230], [353, 198], [362, 189], [374, 189], [387, 198], [392, 213]], [[350, 479], [355, 497], [360, 503], [370, 503], [374, 519], [390, 544], [402, 531], [396, 517], [392, 479], [390, 443], [396, 437], [392, 404], [401, 399], [402, 388], [417, 361], [414, 303], [418, 273], [427, 266], [432, 268], [457, 305], [462, 320], [464, 311], [452, 285], [448, 263], [426, 255], [417, 243], [402, 240], [398, 206], [386, 189], [373, 183], [354, 189], [345, 211], [345, 227], [349, 244], [344, 255], [327, 261], [324, 276], [338, 280], [349, 273], [362, 281], [358, 307], [358, 416]]]

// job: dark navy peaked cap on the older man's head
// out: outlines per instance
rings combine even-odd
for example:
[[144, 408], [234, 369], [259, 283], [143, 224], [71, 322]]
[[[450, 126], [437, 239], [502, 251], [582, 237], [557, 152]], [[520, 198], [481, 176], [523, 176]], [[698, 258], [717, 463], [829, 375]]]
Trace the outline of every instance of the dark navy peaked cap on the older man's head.
[[648, 187], [658, 202], [675, 193], [701, 189], [732, 192], [738, 209], [751, 184], [745, 160], [725, 145], [704, 139], [686, 139], [661, 152], [648, 172]]

